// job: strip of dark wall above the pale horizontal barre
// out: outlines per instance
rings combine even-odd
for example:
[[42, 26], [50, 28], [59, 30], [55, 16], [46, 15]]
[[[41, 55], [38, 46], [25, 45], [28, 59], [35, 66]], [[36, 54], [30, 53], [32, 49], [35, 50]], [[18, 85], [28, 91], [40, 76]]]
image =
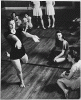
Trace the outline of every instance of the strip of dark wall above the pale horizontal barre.
[[[55, 1], [55, 6], [72, 6], [73, 1]], [[46, 6], [45, 1], [40, 1], [41, 6]], [[2, 7], [28, 7], [32, 6], [31, 1], [1, 1]]]

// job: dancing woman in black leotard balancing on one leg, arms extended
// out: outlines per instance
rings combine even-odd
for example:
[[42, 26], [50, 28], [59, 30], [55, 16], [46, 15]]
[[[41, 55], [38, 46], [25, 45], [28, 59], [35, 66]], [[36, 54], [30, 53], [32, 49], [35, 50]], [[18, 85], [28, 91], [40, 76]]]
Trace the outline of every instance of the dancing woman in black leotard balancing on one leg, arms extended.
[[30, 33], [23, 31], [20, 27], [15, 29], [15, 21], [9, 19], [8, 31], [4, 33], [5, 38], [11, 45], [10, 55], [8, 52], [7, 55], [10, 56], [10, 60], [17, 71], [17, 75], [20, 79], [20, 87], [25, 87], [20, 60], [22, 60], [23, 63], [27, 63], [28, 55], [26, 54], [22, 43], [22, 34], [32, 38], [35, 42], [39, 42], [39, 38], [36, 35], [31, 35]]

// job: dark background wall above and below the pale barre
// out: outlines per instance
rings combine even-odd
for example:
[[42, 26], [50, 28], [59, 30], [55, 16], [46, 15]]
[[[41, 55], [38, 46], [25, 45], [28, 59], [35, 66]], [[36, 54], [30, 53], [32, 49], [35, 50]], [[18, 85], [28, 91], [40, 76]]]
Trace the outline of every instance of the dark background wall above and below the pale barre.
[[[74, 4], [74, 6], [73, 6]], [[30, 1], [1, 1], [1, 8], [3, 7], [28, 7], [28, 6], [33, 6], [33, 3]], [[41, 1], [41, 6], [45, 7], [45, 1]], [[60, 6], [63, 7], [65, 6], [67, 7], [72, 7], [70, 9], [60, 9]], [[72, 19], [76, 18], [76, 17], [80, 17], [80, 2], [75, 2], [75, 1], [56, 1], [55, 2], [55, 7], [58, 7], [58, 9], [55, 8], [55, 22], [56, 25], [65, 25], [65, 24], [69, 24], [69, 22], [71, 22]], [[3, 19], [5, 17], [8, 17], [11, 15], [12, 12], [16, 12], [17, 15], [20, 16], [20, 18], [22, 19], [22, 17], [24, 16], [25, 13], [29, 13], [29, 15], [33, 18], [33, 10], [4, 10], [1, 11], [1, 23], [3, 24]], [[42, 10], [43, 11], [43, 19], [45, 22], [45, 25], [47, 25], [47, 16], [45, 15], [45, 9]], [[4, 13], [3, 13], [4, 12]], [[4, 21], [5, 22], [5, 21]]]

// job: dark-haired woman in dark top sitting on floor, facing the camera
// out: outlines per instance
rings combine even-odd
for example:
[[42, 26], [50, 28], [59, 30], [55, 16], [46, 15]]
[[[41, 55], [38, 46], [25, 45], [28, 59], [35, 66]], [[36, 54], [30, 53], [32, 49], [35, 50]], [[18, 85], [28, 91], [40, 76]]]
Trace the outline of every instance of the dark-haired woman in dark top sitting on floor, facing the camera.
[[69, 53], [69, 44], [64, 39], [61, 31], [56, 32], [55, 47], [51, 50], [49, 54], [50, 62], [63, 62], [67, 59]]

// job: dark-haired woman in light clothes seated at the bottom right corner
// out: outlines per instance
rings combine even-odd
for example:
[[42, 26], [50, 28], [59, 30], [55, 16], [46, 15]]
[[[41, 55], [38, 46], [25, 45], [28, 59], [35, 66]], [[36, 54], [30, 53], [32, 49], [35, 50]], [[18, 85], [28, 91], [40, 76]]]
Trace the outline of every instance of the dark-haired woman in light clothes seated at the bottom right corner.
[[62, 78], [57, 80], [57, 84], [63, 90], [66, 98], [68, 98], [68, 91], [69, 91], [68, 87], [70, 87], [72, 90], [80, 88], [81, 60], [79, 60], [78, 56], [76, 56], [75, 58], [73, 58], [73, 57], [74, 57], [74, 54], [71, 54], [71, 56], [69, 55], [69, 57], [68, 57], [68, 60], [73, 63], [68, 75], [66, 74], [66, 71], [64, 71], [61, 74]]

